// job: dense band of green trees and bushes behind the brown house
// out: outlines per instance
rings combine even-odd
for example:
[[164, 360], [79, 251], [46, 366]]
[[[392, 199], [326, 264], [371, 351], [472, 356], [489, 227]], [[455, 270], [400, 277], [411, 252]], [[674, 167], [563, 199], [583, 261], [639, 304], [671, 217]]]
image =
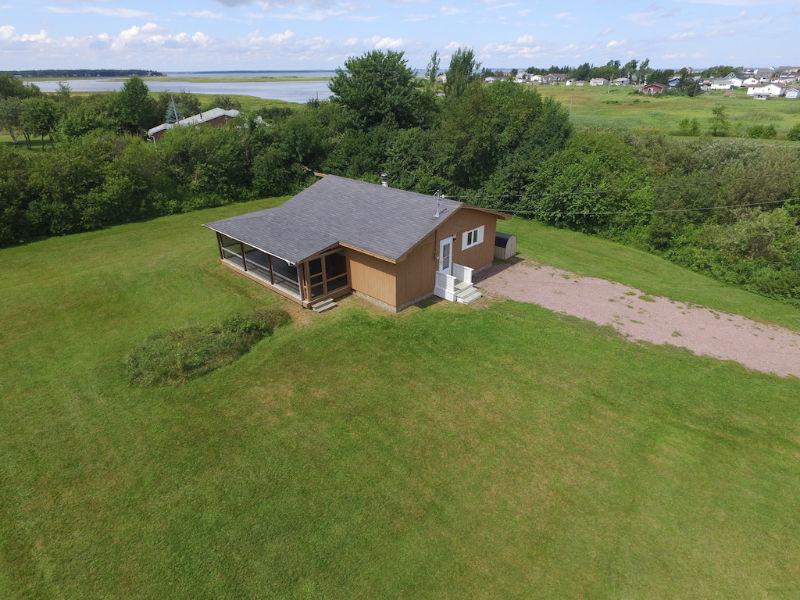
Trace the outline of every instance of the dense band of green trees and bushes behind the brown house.
[[368, 52], [336, 71], [330, 100], [172, 129], [158, 144], [141, 137], [141, 103], [114, 100], [129, 110], [99, 127], [65, 128], [65, 113], [59, 131], [72, 134], [45, 151], [1, 151], [0, 243], [289, 194], [314, 171], [385, 172], [395, 187], [602, 235], [800, 302], [798, 146], [574, 131], [536, 90], [483, 84], [469, 49], [453, 54], [443, 91], [438, 71], [438, 56], [418, 78], [403, 53]]

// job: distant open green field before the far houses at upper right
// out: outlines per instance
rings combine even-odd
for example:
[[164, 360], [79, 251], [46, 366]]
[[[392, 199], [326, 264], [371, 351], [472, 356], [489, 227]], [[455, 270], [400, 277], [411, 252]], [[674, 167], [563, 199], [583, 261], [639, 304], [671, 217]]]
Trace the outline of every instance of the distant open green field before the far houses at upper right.
[[544, 96], [560, 101], [570, 111], [577, 127], [600, 127], [651, 133], [675, 133], [682, 119], [697, 119], [708, 133], [711, 111], [727, 109], [731, 135], [744, 136], [754, 125], [773, 125], [784, 138], [800, 124], [800, 100], [771, 98], [754, 100], [744, 90], [708, 92], [688, 96], [642, 96], [631, 87], [574, 87], [542, 85], [535, 88]]

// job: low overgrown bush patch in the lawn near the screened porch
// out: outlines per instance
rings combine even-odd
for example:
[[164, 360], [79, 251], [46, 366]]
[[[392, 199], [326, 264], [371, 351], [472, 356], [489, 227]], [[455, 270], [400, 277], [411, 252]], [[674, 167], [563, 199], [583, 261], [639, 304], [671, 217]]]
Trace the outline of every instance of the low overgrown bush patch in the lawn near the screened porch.
[[234, 315], [219, 325], [156, 333], [128, 355], [128, 380], [153, 386], [199, 377], [232, 363], [290, 321], [284, 310], [259, 309], [250, 315]]

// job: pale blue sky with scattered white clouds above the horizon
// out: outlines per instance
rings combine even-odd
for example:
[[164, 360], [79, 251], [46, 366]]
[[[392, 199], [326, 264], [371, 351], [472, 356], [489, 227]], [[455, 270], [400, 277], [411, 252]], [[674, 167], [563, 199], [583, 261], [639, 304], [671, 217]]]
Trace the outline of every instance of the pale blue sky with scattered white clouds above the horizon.
[[800, 62], [798, 0], [0, 0], [0, 70], [331, 69], [373, 48], [424, 67]]

